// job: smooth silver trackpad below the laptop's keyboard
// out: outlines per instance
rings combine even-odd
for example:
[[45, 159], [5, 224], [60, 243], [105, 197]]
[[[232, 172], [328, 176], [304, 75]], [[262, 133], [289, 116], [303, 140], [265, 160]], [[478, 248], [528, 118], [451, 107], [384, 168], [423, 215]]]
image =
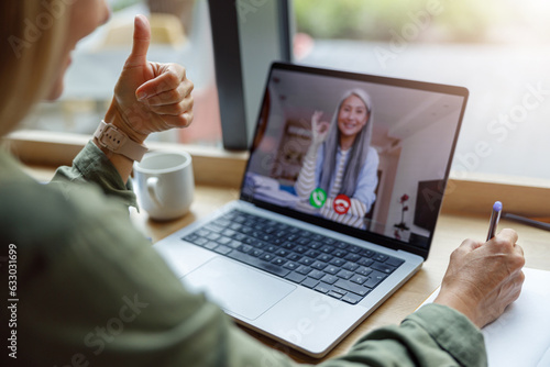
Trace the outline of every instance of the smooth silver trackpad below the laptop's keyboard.
[[215, 257], [182, 278], [185, 285], [230, 311], [254, 320], [296, 286], [223, 257]]

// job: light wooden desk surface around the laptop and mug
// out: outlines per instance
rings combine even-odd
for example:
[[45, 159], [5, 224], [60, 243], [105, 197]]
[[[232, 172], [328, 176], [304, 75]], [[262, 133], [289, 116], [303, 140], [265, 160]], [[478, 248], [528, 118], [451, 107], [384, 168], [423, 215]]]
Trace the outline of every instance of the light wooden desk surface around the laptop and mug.
[[[150, 221], [145, 213], [133, 213], [136, 225], [156, 242], [176, 230], [193, 223], [195, 220], [207, 215], [222, 204], [237, 199], [238, 190], [211, 186], [198, 186], [196, 198], [190, 213], [170, 222]], [[451, 213], [444, 210], [436, 229], [436, 236], [431, 246], [428, 260], [422, 268], [384, 304], [382, 304], [359, 327], [348, 335], [330, 354], [330, 358], [343, 354], [361, 335], [376, 327], [398, 324], [406, 315], [410, 314], [422, 303], [439, 286], [449, 263], [449, 256], [459, 244], [468, 238], [484, 240], [487, 235], [488, 216]], [[519, 244], [526, 256], [526, 266], [537, 269], [550, 270], [550, 233], [503, 220], [499, 229], [513, 227], [519, 233]], [[245, 330], [264, 344], [275, 346], [276, 343], [255, 332]], [[280, 345], [277, 344], [280, 349]], [[294, 351], [287, 352], [294, 359], [304, 363], [319, 363]]]

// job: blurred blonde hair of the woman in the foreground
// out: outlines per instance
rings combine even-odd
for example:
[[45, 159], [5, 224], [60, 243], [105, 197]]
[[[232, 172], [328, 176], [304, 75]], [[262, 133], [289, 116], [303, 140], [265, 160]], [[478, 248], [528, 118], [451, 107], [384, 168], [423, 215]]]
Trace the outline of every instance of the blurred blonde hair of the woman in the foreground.
[[75, 0], [0, 2], [0, 137], [44, 99], [57, 77]]

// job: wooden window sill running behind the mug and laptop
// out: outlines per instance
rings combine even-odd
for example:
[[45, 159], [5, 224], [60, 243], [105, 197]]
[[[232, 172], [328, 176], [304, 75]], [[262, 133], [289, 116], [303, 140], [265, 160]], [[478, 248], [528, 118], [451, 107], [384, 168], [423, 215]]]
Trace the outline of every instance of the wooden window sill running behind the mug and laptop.
[[[44, 176], [48, 167], [51, 170], [51, 167], [70, 165], [89, 138], [89, 135], [18, 131], [6, 141], [22, 163], [38, 167], [33, 173]], [[237, 190], [249, 156], [246, 152], [184, 144], [151, 143], [150, 148], [187, 151], [194, 158], [197, 184]], [[522, 177], [451, 173], [442, 212], [481, 214], [488, 220], [496, 200], [503, 202], [507, 212], [550, 222], [550, 180]]]

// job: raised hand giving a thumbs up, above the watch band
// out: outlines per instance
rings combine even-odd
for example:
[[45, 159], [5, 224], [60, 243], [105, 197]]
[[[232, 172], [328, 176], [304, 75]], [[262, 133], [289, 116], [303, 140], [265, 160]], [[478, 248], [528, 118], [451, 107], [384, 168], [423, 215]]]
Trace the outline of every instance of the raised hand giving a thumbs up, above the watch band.
[[186, 127], [193, 121], [193, 82], [177, 64], [147, 62], [151, 26], [135, 16], [133, 46], [114, 87], [106, 122], [142, 143], [150, 133]]

